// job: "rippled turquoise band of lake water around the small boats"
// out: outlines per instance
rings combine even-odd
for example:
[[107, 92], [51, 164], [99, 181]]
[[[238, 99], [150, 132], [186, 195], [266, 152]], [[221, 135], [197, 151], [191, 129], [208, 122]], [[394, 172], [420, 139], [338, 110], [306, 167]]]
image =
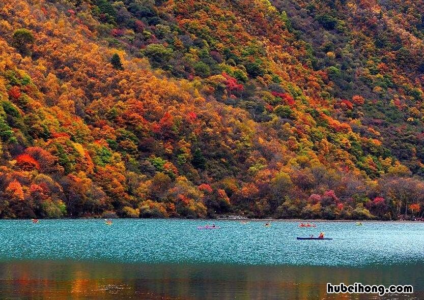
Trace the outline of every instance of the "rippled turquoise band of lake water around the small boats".
[[[211, 221], [208, 221], [211, 223]], [[89, 260], [122, 263], [208, 263], [363, 267], [424, 263], [424, 224], [299, 222], [240, 224], [215, 221], [218, 230], [198, 230], [202, 220], [0, 221], [0, 260]], [[317, 236], [332, 241], [297, 241]]]

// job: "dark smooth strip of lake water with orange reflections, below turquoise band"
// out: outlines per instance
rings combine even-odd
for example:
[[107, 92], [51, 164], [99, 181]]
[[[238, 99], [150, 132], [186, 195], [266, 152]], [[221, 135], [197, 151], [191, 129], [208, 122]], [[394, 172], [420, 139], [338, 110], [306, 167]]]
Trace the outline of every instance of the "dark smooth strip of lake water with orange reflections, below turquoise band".
[[[423, 265], [367, 268], [75, 261], [0, 263], [1, 299], [422, 299]], [[327, 282], [412, 284], [413, 296], [329, 296]]]

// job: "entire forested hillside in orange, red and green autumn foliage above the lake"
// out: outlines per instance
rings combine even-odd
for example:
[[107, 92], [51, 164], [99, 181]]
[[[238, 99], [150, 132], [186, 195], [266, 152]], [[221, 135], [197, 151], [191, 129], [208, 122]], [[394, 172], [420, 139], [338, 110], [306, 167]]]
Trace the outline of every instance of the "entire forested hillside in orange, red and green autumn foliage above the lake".
[[424, 212], [424, 3], [0, 3], [0, 217]]

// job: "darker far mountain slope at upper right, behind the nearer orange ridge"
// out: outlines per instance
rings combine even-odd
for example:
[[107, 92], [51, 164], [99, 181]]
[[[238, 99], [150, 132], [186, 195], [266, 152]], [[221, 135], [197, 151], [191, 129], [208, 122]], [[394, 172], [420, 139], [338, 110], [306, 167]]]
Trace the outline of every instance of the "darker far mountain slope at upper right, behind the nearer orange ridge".
[[[421, 4], [421, 5], [420, 5]], [[422, 2], [275, 1], [314, 49], [315, 69], [337, 68], [335, 96], [358, 91], [366, 101], [361, 123], [422, 175]]]

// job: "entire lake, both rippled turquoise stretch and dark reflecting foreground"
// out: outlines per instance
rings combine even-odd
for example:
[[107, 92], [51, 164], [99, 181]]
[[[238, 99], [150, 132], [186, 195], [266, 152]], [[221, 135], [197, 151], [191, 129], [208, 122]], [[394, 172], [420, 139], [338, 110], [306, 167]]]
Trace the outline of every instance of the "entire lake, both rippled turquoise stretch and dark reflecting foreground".
[[[220, 229], [198, 230], [212, 224]], [[0, 221], [0, 299], [422, 299], [424, 224]], [[331, 241], [298, 241], [318, 235]], [[326, 283], [413, 295], [328, 295]], [[350, 296], [350, 297], [349, 297]]]

